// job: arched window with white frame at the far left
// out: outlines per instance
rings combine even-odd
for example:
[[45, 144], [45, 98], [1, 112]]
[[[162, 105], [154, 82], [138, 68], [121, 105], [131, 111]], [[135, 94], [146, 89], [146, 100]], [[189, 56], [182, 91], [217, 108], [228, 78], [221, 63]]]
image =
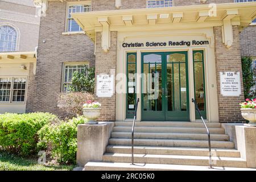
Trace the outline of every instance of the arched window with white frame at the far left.
[[13, 27], [0, 27], [0, 52], [16, 51], [17, 32]]

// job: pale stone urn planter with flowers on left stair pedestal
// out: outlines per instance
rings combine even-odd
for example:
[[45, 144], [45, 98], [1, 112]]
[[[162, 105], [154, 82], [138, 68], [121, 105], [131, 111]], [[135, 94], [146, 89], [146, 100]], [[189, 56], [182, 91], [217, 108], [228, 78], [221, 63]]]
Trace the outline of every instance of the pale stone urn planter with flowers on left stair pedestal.
[[83, 114], [86, 118], [89, 119], [86, 124], [88, 125], [96, 125], [96, 119], [101, 115], [101, 104], [94, 101], [86, 101], [82, 108]]

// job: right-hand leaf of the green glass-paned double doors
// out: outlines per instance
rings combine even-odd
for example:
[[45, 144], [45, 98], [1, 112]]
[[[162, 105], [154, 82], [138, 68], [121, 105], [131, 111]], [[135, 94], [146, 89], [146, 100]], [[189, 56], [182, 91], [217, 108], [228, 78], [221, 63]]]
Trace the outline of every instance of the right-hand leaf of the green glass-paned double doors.
[[166, 52], [166, 121], [189, 121], [187, 52]]

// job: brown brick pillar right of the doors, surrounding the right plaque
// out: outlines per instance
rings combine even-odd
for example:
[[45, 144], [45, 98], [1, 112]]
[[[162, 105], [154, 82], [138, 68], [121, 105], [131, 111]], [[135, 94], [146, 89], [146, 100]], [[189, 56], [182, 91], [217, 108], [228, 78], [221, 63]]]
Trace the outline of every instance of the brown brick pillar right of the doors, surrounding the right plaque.
[[[229, 49], [222, 43], [221, 27], [214, 27], [216, 76], [218, 90], [218, 115], [220, 122], [242, 122], [239, 103], [244, 101], [239, 31], [233, 26], [234, 43]], [[220, 93], [220, 72], [237, 71], [241, 75], [240, 97], [223, 97]]]

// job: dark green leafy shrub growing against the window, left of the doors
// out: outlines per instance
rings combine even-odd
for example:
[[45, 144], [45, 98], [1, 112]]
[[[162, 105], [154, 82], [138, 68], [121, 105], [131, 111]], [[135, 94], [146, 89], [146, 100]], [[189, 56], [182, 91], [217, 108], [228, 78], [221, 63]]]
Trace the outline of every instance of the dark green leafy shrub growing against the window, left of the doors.
[[70, 89], [72, 92], [94, 93], [95, 69], [88, 68], [86, 73], [74, 72], [72, 76]]

